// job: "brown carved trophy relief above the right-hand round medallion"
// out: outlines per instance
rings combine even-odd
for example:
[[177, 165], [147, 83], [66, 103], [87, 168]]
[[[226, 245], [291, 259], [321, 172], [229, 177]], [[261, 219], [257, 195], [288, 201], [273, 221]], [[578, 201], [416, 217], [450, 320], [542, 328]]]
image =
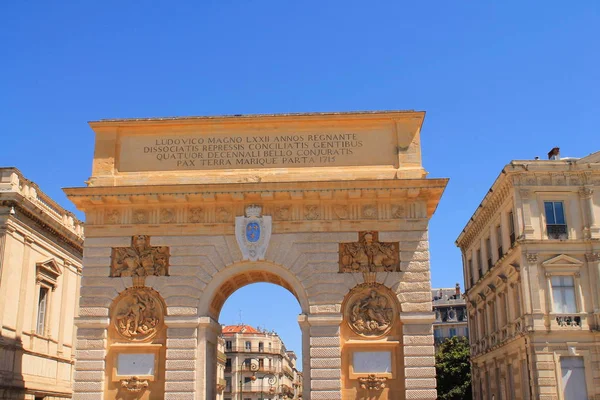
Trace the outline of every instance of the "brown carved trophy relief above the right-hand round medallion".
[[359, 232], [358, 242], [340, 243], [340, 272], [399, 272], [398, 242], [383, 243], [374, 231]]

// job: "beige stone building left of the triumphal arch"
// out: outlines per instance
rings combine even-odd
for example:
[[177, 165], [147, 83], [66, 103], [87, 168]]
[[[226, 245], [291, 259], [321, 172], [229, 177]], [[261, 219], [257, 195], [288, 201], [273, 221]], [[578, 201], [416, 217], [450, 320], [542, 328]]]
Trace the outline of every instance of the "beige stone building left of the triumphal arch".
[[0, 168], [0, 398], [71, 398], [82, 251], [82, 223]]

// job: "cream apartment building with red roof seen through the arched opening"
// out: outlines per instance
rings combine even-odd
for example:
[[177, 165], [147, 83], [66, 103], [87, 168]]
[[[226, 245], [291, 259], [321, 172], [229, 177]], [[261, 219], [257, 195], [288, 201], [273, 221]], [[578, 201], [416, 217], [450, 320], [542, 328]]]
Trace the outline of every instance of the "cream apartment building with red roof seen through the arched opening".
[[248, 325], [223, 327], [225, 400], [302, 398], [296, 354], [274, 332]]

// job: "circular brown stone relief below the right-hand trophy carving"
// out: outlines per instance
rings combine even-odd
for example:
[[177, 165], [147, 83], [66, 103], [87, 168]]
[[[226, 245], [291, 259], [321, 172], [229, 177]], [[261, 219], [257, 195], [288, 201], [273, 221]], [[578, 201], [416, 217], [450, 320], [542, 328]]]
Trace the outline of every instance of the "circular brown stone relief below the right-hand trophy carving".
[[380, 285], [362, 284], [351, 293], [346, 305], [350, 329], [364, 337], [379, 337], [390, 331], [394, 323], [394, 302]]

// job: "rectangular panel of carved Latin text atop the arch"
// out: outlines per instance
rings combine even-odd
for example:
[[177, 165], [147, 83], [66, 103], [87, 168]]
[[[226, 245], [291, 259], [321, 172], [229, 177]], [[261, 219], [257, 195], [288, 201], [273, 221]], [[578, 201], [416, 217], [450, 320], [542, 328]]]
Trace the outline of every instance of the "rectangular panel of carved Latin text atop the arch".
[[123, 135], [119, 171], [394, 166], [391, 129], [357, 132]]

